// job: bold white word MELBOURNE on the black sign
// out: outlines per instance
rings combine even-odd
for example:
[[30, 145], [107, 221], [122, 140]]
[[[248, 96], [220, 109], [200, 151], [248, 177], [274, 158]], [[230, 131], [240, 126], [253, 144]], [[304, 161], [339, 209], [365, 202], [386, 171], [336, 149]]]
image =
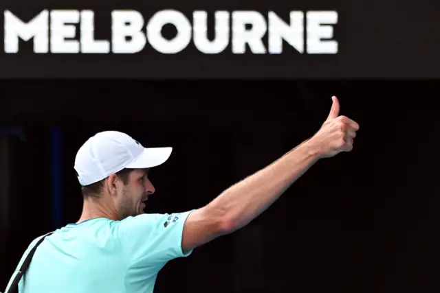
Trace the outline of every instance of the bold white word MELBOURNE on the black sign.
[[[209, 27], [203, 10], [192, 12], [191, 20], [177, 10], [161, 10], [149, 20], [135, 10], [113, 10], [111, 38], [98, 40], [92, 10], [43, 10], [27, 23], [5, 10], [4, 51], [17, 54], [20, 40], [33, 38], [34, 53], [39, 54], [136, 54], [147, 43], [159, 53], [177, 54], [191, 41], [203, 54], [220, 54], [228, 46], [233, 54], [282, 54], [286, 44], [300, 54], [338, 53], [333, 39], [336, 11], [291, 11], [289, 21], [274, 11], [267, 19], [256, 11], [217, 11], [213, 16], [214, 27]], [[173, 38], [162, 34], [166, 25], [175, 27]]]

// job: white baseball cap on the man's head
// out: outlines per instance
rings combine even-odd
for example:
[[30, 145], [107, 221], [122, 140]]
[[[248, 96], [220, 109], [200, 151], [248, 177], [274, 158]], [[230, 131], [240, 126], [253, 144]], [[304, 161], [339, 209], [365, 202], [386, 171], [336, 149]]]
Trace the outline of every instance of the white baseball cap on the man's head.
[[144, 148], [129, 135], [104, 131], [89, 138], [78, 150], [75, 170], [83, 186], [91, 185], [122, 169], [144, 169], [165, 163], [173, 148]]

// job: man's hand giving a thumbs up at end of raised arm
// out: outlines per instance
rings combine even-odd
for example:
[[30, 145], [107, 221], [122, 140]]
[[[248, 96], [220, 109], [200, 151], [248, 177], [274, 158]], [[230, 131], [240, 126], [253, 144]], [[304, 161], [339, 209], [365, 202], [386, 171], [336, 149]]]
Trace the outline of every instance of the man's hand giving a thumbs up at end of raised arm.
[[339, 101], [333, 96], [333, 105], [331, 106], [329, 117], [322, 124], [321, 129], [316, 132], [310, 142], [318, 148], [322, 158], [336, 156], [340, 152], [350, 152], [353, 150], [353, 139], [356, 137], [356, 131], [359, 125], [345, 116], [339, 116]]

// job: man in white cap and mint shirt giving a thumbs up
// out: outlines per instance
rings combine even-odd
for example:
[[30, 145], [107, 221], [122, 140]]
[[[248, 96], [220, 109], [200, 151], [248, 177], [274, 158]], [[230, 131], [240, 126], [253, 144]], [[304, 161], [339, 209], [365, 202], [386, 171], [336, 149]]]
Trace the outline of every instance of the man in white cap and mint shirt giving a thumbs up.
[[153, 292], [168, 261], [245, 226], [316, 161], [351, 151], [359, 126], [339, 116], [339, 108], [333, 97], [329, 117], [313, 137], [205, 207], [169, 215], [143, 210], [155, 191], [147, 170], [164, 163], [171, 148], [143, 148], [121, 132], [96, 134], [75, 160], [84, 197], [80, 220], [38, 246], [19, 292]]

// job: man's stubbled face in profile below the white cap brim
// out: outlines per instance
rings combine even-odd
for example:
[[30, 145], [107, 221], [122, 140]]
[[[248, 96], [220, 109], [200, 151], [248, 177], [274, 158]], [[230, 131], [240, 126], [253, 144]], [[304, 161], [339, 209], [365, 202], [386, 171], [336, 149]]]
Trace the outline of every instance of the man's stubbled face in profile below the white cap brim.
[[118, 198], [118, 213], [121, 219], [144, 213], [148, 196], [155, 192], [155, 188], [148, 179], [148, 172], [144, 169], [134, 169], [129, 173], [126, 184], [122, 185], [122, 192]]

